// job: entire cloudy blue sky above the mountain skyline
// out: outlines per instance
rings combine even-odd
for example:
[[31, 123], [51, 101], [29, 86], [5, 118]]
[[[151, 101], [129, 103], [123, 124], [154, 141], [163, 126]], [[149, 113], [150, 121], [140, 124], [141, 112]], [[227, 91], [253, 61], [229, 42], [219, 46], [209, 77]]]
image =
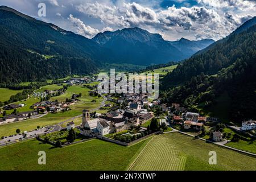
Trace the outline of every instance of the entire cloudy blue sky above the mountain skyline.
[[[38, 16], [42, 2], [46, 17]], [[0, 5], [86, 38], [139, 27], [166, 40], [219, 40], [256, 16], [256, 0], [0, 0]]]

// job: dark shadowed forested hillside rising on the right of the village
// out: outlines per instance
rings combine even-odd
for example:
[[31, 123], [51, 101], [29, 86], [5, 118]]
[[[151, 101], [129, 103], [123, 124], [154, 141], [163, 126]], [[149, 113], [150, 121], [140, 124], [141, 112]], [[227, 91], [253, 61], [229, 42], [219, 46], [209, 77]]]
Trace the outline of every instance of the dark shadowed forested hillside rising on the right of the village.
[[188, 107], [209, 109], [223, 93], [228, 93], [229, 118], [235, 122], [255, 119], [256, 113], [256, 25], [232, 34], [201, 55], [179, 65], [163, 80], [163, 100]]

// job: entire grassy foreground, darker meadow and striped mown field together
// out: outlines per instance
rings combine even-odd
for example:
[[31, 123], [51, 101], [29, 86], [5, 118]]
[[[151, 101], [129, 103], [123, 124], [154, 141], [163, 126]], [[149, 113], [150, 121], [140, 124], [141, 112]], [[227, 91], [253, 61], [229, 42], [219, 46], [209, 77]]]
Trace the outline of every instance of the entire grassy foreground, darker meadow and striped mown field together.
[[[38, 152], [46, 151], [46, 165]], [[210, 165], [216, 151], [217, 165]], [[0, 148], [0, 170], [256, 170], [256, 159], [179, 133], [155, 135], [130, 147], [93, 139], [55, 148], [35, 139]]]

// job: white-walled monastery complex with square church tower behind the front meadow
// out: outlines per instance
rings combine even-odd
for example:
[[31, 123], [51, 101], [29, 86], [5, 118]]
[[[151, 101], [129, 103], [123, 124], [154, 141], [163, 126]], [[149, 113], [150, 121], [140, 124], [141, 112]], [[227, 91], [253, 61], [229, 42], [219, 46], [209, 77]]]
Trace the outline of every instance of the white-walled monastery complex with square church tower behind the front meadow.
[[137, 103], [131, 103], [126, 110], [118, 109], [106, 114], [97, 114], [94, 119], [90, 119], [89, 111], [84, 110], [80, 133], [85, 136], [104, 136], [142, 125], [153, 117], [154, 113], [142, 109], [142, 105]]

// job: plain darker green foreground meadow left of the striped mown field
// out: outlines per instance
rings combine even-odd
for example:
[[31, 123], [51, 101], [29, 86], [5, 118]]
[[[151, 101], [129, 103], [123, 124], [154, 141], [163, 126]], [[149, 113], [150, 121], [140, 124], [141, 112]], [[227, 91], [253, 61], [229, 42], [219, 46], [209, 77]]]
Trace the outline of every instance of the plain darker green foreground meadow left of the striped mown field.
[[[0, 148], [0, 171], [5, 170], [125, 170], [146, 140], [130, 147], [94, 139], [64, 148], [53, 148], [35, 139]], [[38, 152], [46, 152], [46, 165]]]

